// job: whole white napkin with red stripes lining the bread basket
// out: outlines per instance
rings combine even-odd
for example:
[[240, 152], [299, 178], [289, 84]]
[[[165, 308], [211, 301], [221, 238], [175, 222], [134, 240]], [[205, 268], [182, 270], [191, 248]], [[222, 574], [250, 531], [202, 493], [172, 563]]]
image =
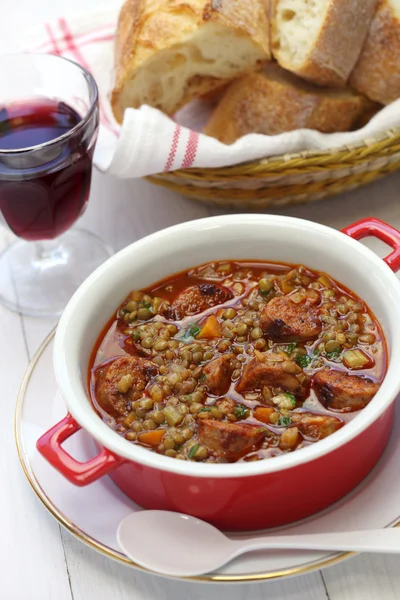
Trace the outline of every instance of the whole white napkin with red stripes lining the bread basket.
[[[148, 106], [125, 112], [116, 123], [109, 103], [113, 85], [113, 38], [118, 10], [61, 17], [31, 33], [25, 48], [70, 58], [88, 69], [100, 91], [101, 128], [96, 166], [124, 178], [190, 167], [223, 167], [274, 155], [330, 149], [370, 138], [400, 126], [400, 100], [387, 106], [362, 130], [321, 134], [297, 130], [277, 136], [252, 134], [231, 146], [198, 133], [207, 105], [195, 102], [170, 119]], [[26, 40], [26, 37], [25, 37]]]

